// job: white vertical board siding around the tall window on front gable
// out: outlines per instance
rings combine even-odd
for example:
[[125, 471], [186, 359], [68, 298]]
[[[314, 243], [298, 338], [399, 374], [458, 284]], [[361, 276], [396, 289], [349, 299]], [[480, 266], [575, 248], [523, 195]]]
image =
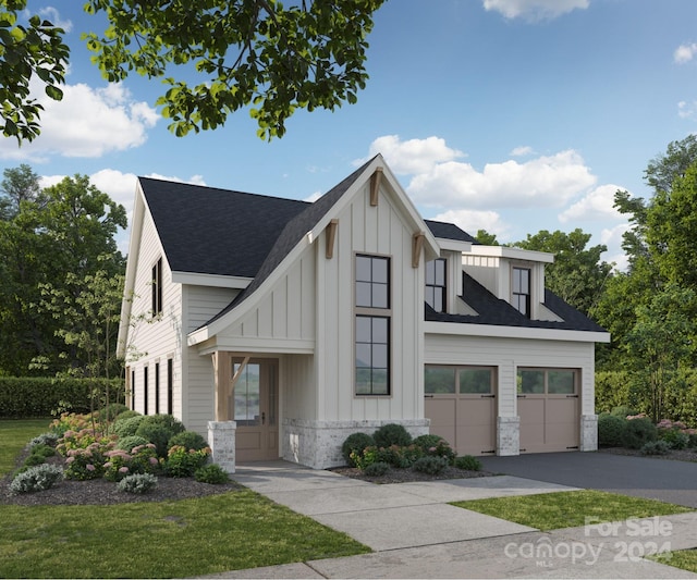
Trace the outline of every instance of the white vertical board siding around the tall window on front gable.
[[[423, 417], [424, 261], [412, 267], [414, 231], [381, 189], [370, 206], [369, 184], [339, 220], [333, 256], [317, 246], [317, 420], [400, 420]], [[391, 394], [356, 396], [354, 387], [354, 280], [356, 254], [384, 256], [391, 266]]]

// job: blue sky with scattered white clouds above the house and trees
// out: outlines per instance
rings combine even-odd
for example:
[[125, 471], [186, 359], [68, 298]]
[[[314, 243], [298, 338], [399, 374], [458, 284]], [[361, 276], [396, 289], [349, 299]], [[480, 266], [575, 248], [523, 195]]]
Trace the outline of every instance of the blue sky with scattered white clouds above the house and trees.
[[174, 137], [159, 81], [109, 86], [89, 63], [81, 5], [28, 2], [70, 29], [71, 71], [35, 143], [0, 140], [0, 168], [86, 174], [127, 209], [137, 175], [313, 199], [381, 152], [425, 218], [501, 242], [580, 227], [622, 266], [614, 192], [646, 197], [648, 161], [697, 131], [695, 0], [388, 0], [358, 103], [298, 112], [271, 143], [247, 111]]

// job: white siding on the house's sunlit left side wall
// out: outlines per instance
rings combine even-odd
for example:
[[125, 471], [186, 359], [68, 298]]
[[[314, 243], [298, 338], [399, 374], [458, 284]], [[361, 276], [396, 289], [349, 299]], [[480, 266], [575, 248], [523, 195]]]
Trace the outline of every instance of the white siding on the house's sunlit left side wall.
[[[162, 259], [162, 313], [152, 319], [152, 267]], [[137, 320], [135, 328], [129, 329], [127, 345], [137, 357], [126, 359], [126, 365], [135, 372], [135, 410], [154, 414], [156, 408], [156, 363], [159, 362], [160, 412], [167, 402], [167, 361], [173, 359], [173, 412], [181, 417], [181, 360], [179, 347], [183, 340], [182, 291], [172, 283], [172, 272], [163, 256], [155, 224], [148, 212], [144, 217], [142, 242], [138, 247], [132, 305], [132, 317]], [[144, 373], [148, 372], [148, 408], [145, 409]]]

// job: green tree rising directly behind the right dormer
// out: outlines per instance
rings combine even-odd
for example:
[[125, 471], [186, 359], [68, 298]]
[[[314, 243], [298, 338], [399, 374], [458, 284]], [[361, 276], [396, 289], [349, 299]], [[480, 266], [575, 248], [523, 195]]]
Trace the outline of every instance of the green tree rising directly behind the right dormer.
[[590, 234], [579, 229], [568, 234], [542, 230], [512, 246], [553, 254], [554, 263], [545, 269], [545, 285], [577, 310], [592, 316], [613, 266], [600, 260], [608, 248], [603, 245], [587, 248], [589, 240]]

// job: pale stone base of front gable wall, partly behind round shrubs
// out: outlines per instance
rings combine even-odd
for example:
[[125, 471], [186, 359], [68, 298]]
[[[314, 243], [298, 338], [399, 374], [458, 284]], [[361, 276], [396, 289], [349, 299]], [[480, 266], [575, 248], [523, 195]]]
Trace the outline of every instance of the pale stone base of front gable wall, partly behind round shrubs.
[[327, 469], [345, 465], [341, 446], [352, 433], [371, 435], [379, 427], [399, 423], [416, 437], [428, 433], [429, 419], [384, 421], [310, 421], [283, 420], [282, 456], [286, 461]]

